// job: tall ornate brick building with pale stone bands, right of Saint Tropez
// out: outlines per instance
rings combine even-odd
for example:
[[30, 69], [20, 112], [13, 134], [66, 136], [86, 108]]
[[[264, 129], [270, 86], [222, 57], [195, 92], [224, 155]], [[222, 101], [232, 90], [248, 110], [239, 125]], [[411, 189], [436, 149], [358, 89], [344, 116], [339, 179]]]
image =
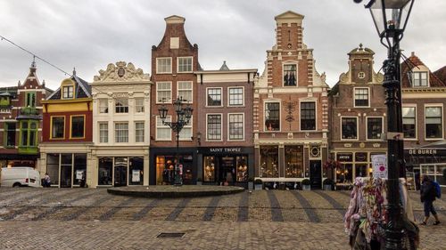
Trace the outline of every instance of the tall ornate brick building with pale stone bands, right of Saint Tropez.
[[303, 43], [303, 16], [276, 17], [276, 44], [254, 86], [255, 176], [293, 186], [309, 179], [320, 189], [326, 175], [328, 100], [325, 75]]

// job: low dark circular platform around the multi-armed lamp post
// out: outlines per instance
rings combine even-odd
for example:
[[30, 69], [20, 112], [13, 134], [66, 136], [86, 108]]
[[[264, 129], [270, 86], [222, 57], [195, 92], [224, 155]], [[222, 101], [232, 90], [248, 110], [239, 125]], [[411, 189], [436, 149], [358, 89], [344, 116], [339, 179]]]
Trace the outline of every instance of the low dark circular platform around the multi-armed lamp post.
[[230, 195], [243, 191], [244, 188], [241, 187], [211, 185], [131, 186], [107, 189], [107, 192], [113, 195], [143, 198], [194, 198]]

